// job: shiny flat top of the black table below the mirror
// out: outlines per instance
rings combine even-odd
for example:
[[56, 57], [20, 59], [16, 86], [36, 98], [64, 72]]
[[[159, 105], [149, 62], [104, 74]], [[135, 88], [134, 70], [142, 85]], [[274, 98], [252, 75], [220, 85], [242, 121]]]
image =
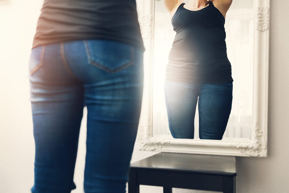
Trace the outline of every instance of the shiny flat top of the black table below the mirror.
[[181, 171], [224, 176], [236, 175], [236, 158], [234, 156], [158, 153], [131, 163], [130, 166], [131, 168], [138, 169]]

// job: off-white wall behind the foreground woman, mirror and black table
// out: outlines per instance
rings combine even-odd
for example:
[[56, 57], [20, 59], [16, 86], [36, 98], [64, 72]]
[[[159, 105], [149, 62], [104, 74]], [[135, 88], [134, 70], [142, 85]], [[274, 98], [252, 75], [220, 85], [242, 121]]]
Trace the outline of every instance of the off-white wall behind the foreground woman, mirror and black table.
[[[0, 0], [0, 192], [28, 193], [33, 185], [34, 140], [29, 103], [27, 61], [40, 0]], [[238, 193], [289, 192], [289, 2], [270, 4], [268, 157], [237, 157]], [[86, 119], [83, 119], [75, 169], [83, 192]], [[132, 162], [155, 152], [135, 148]], [[159, 193], [141, 186], [141, 193]], [[174, 189], [174, 193], [204, 192]], [[206, 192], [208, 193], [208, 192]]]

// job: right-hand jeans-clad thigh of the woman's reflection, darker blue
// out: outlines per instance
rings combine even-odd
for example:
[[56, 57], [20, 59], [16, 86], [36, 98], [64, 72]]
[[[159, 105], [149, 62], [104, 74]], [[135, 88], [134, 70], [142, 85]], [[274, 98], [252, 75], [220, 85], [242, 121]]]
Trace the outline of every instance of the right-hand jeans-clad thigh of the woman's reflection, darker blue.
[[202, 84], [200, 89], [199, 137], [221, 140], [231, 113], [233, 83]]

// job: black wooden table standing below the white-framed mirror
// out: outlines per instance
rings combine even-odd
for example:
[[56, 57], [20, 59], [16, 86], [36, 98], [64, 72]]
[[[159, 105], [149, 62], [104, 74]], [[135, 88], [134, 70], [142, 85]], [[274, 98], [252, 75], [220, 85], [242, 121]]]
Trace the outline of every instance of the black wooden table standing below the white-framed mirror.
[[128, 191], [139, 193], [139, 185], [236, 192], [236, 158], [219, 155], [159, 153], [132, 163]]

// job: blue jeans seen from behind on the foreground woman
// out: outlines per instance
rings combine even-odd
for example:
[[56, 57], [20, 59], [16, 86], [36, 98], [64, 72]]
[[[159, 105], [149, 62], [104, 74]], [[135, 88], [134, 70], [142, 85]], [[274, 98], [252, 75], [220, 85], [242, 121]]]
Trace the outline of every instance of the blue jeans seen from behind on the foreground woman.
[[109, 40], [32, 49], [33, 193], [68, 193], [87, 106], [86, 193], [124, 193], [143, 90], [143, 51]]

